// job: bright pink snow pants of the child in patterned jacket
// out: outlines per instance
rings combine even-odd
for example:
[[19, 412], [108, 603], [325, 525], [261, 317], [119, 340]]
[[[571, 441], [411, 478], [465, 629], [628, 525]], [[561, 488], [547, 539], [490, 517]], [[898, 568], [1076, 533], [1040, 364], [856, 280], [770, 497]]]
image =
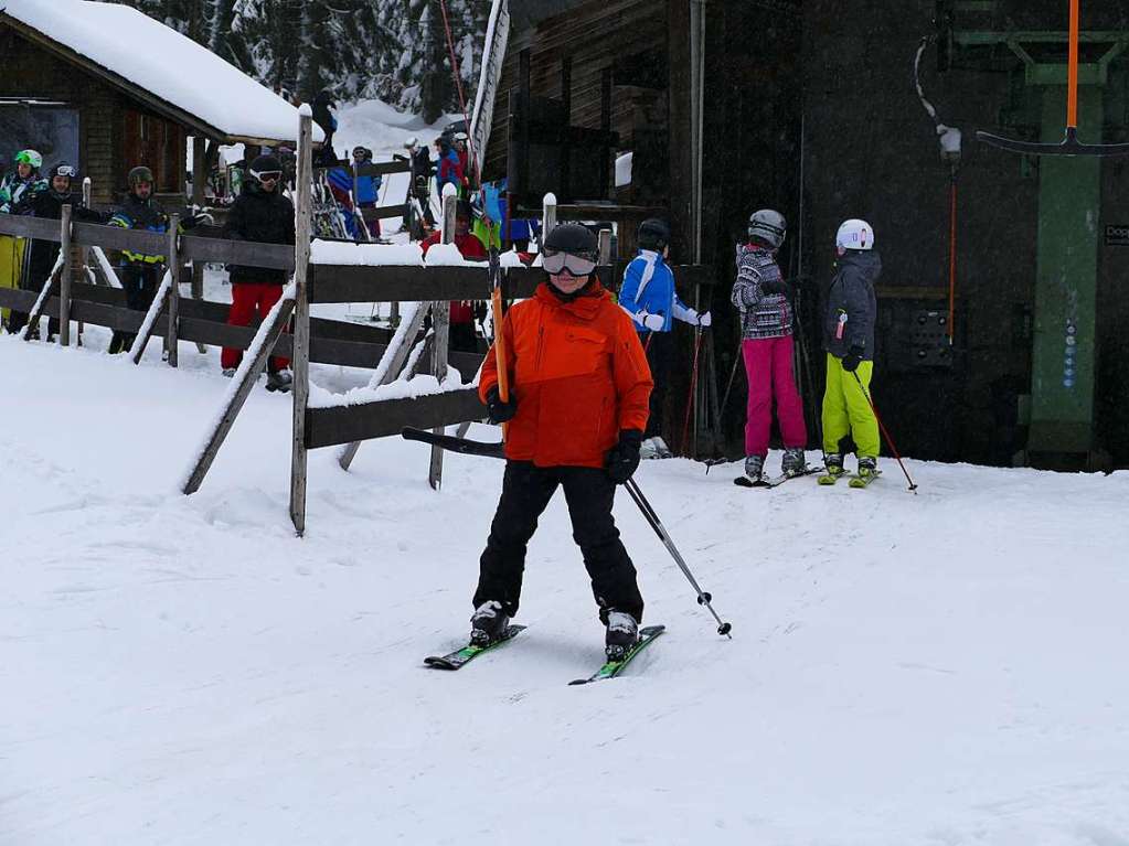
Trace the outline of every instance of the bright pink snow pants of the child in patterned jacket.
[[791, 336], [746, 338], [741, 343], [741, 350], [745, 356], [745, 373], [749, 374], [745, 455], [768, 455], [773, 395], [784, 446], [805, 447], [807, 428], [804, 425], [804, 406], [791, 374]]

